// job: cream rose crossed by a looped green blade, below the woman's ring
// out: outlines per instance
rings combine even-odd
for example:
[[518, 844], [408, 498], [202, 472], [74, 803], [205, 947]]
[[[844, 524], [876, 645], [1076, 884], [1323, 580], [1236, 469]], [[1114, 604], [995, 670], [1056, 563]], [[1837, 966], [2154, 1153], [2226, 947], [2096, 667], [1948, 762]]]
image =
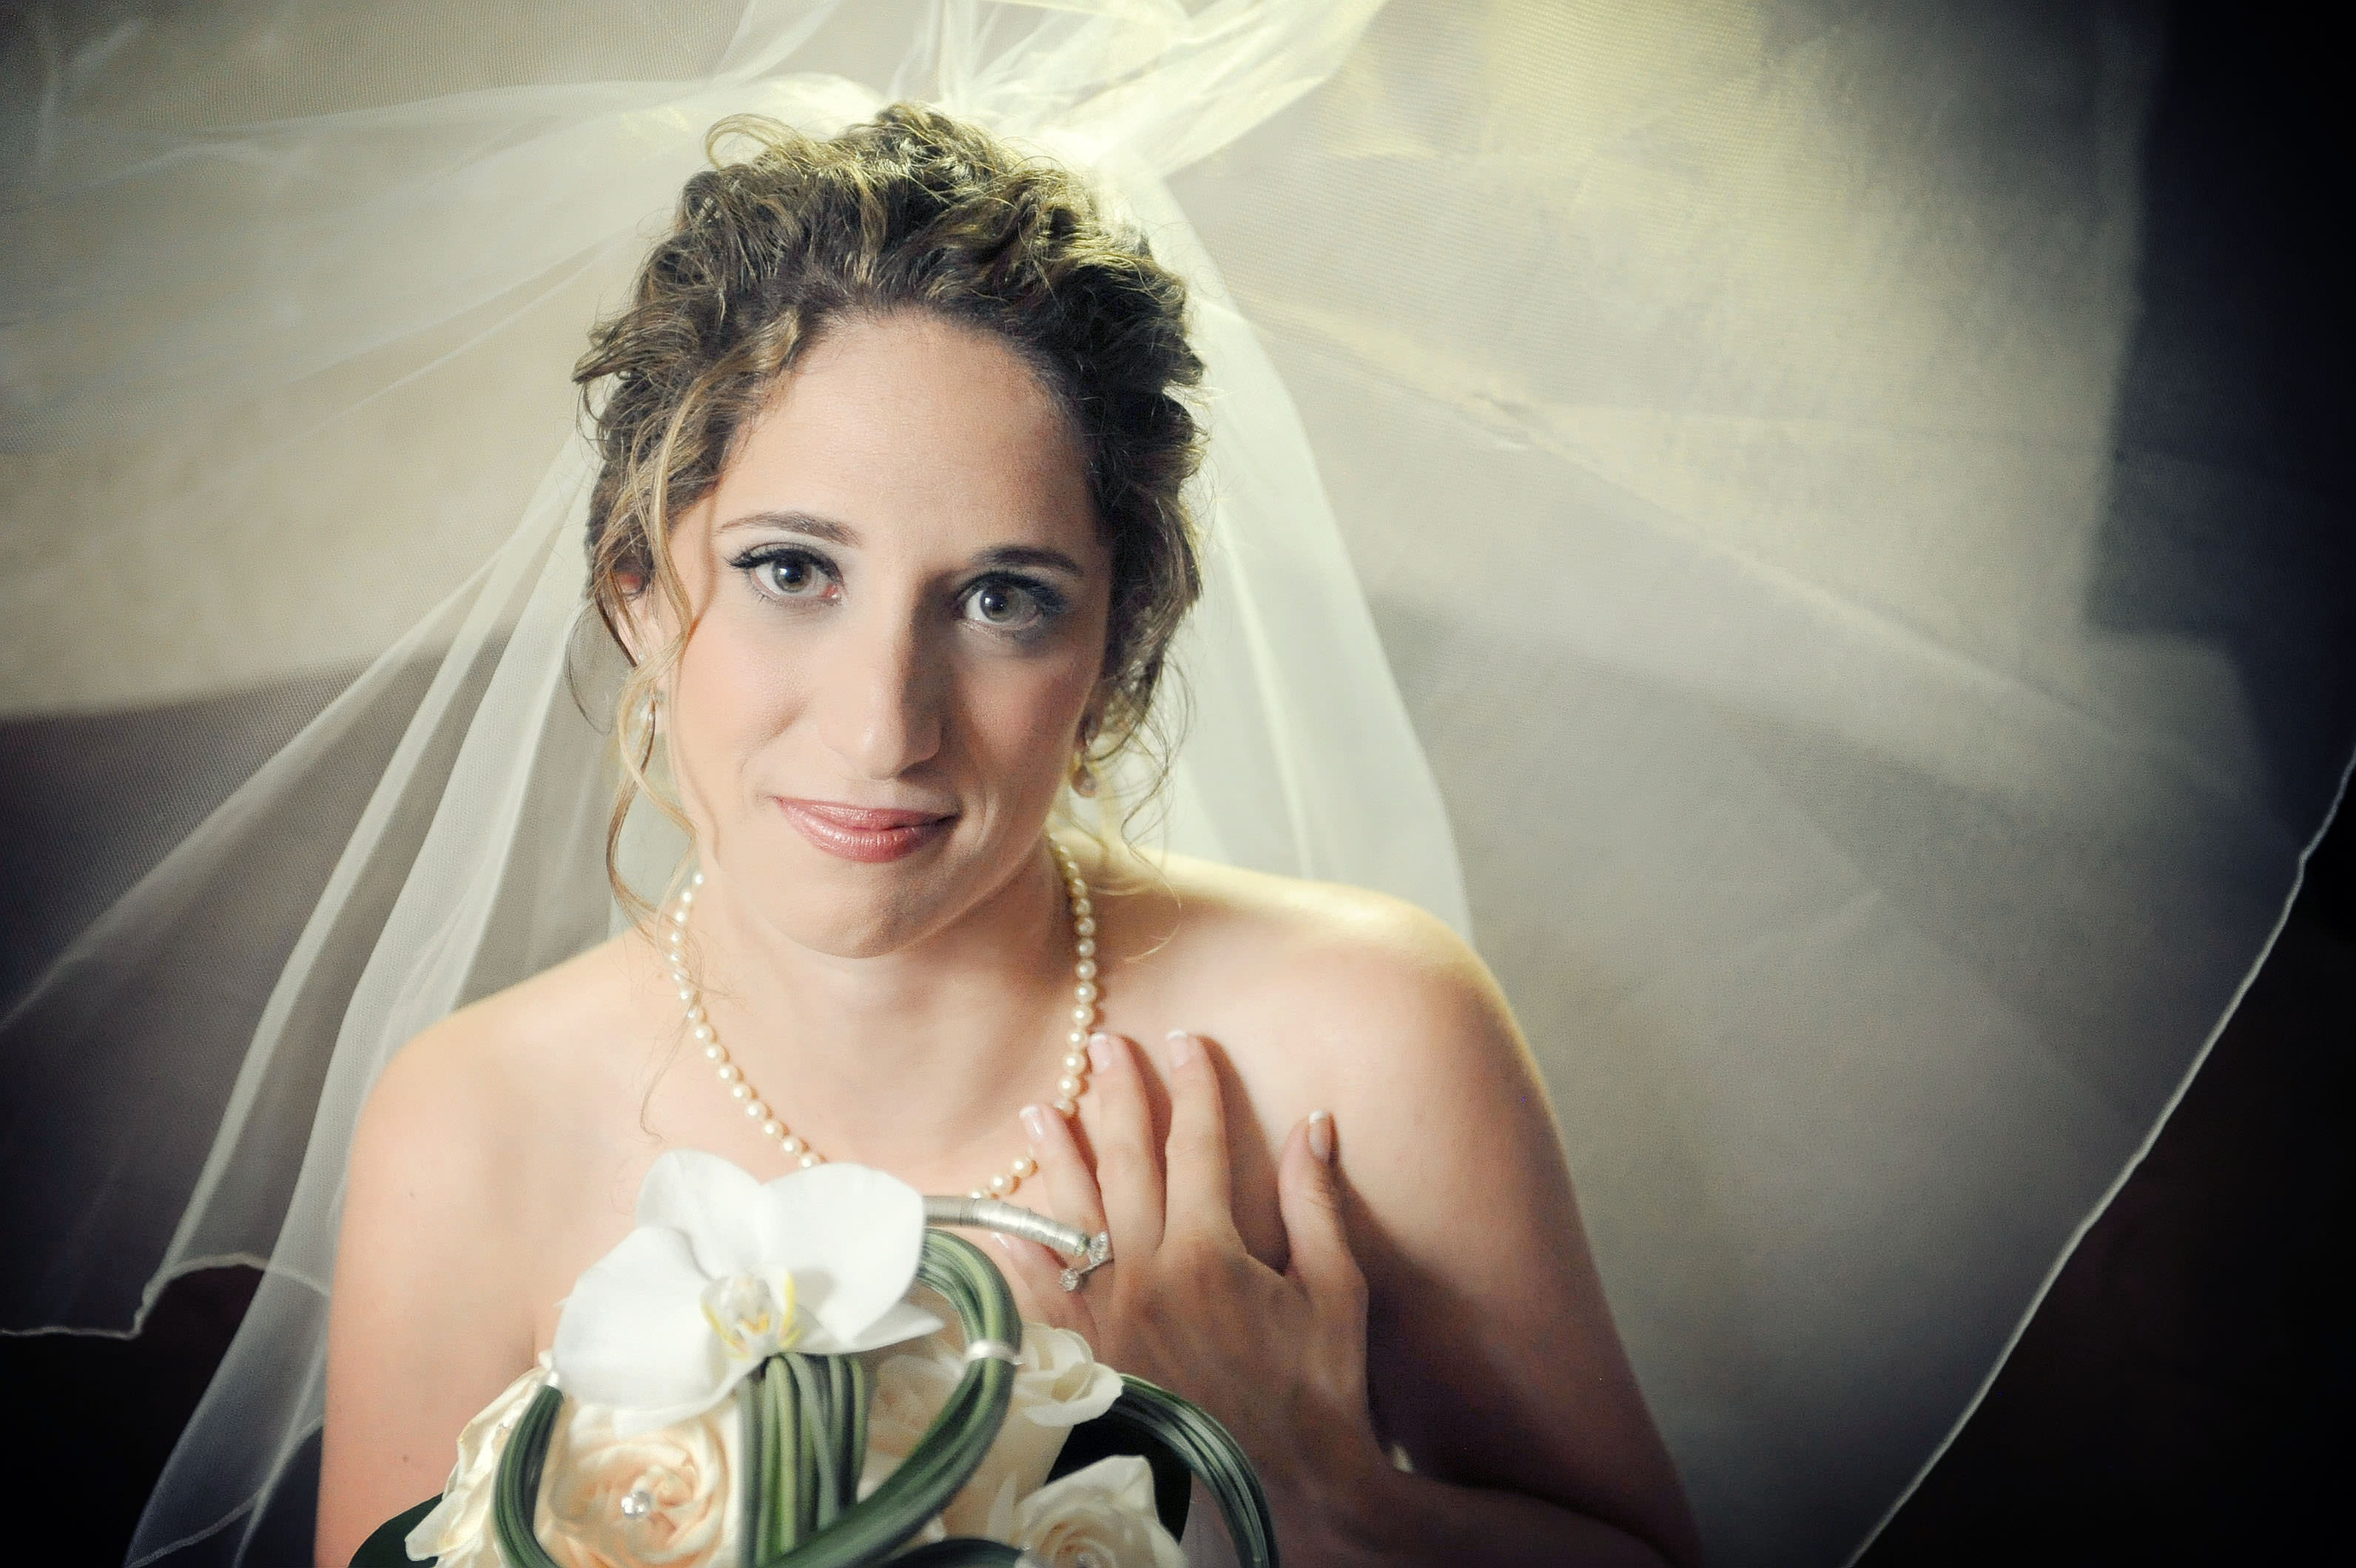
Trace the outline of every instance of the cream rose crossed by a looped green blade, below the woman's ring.
[[[926, 1335], [914, 1351], [884, 1358], [867, 1417], [862, 1495], [914, 1453], [964, 1375], [964, 1340], [954, 1330]], [[1119, 1396], [1119, 1373], [1100, 1366], [1081, 1335], [1025, 1323], [1023, 1363], [1015, 1368], [1006, 1424], [999, 1427], [973, 1479], [940, 1511], [947, 1533], [1006, 1540], [1015, 1500], [1046, 1483], [1072, 1427], [1096, 1420]]]

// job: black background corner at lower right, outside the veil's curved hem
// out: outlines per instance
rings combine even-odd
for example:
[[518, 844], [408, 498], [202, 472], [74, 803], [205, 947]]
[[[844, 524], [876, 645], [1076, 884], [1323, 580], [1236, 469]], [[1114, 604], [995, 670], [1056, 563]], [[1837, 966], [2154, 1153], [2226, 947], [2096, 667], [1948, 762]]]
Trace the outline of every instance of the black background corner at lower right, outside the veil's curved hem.
[[1864, 1568], [2356, 1561], [2356, 829]]

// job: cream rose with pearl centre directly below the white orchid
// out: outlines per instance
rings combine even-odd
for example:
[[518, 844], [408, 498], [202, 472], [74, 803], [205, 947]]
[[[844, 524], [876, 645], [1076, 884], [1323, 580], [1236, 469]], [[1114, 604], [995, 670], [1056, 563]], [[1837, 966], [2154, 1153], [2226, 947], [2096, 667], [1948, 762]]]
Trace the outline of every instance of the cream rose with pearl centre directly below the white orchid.
[[655, 1431], [565, 1403], [532, 1530], [563, 1568], [733, 1568], [735, 1443], [733, 1401]]

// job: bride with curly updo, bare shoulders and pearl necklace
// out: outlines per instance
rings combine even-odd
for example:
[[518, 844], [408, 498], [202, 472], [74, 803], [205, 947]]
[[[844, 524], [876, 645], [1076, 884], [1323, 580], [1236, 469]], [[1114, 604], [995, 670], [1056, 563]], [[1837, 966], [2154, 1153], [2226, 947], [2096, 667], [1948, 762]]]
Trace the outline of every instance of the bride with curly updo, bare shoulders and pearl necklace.
[[1378, 895], [1051, 833], [1150, 744], [1199, 589], [1176, 275], [931, 111], [726, 129], [754, 153], [577, 372], [615, 826], [667, 793], [695, 869], [368, 1099], [318, 1561], [438, 1490], [655, 1156], [709, 1149], [1110, 1231], [1077, 1293], [994, 1241], [1027, 1318], [1227, 1422], [1296, 1563], [1692, 1563], [1480, 961]]

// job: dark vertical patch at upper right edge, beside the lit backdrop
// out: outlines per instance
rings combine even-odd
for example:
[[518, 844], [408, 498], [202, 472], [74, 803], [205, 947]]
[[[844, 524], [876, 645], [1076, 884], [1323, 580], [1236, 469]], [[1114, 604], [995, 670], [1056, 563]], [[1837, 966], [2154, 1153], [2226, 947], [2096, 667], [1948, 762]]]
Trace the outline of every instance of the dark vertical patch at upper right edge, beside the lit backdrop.
[[[2316, 822], [2356, 735], [2347, 381], [2356, 193], [2311, 24], [2172, 14], [2144, 144], [2142, 318], [2120, 372], [2090, 614], [2215, 645], [2243, 676], [2283, 822]], [[2229, 567], [2229, 570], [2219, 570]]]

